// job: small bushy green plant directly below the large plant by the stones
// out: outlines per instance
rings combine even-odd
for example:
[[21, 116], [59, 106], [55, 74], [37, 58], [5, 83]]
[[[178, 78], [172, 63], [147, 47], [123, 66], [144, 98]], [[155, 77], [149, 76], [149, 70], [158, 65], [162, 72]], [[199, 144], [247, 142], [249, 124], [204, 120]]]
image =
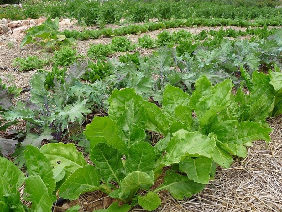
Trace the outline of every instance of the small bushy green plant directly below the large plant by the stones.
[[68, 66], [74, 64], [78, 58], [83, 56], [77, 54], [77, 50], [68, 46], [62, 46], [60, 50], [55, 51], [51, 59], [56, 66]]

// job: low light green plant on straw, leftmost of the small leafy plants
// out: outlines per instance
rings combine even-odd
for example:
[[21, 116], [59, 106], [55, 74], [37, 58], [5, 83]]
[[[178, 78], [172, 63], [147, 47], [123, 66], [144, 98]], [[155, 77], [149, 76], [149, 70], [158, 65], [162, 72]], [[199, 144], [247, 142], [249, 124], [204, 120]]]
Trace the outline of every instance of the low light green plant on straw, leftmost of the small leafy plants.
[[26, 58], [15, 58], [12, 65], [18, 67], [18, 70], [20, 71], [29, 71], [32, 69], [42, 68], [47, 63], [49, 63], [48, 60], [39, 59], [36, 55], [28, 55]]

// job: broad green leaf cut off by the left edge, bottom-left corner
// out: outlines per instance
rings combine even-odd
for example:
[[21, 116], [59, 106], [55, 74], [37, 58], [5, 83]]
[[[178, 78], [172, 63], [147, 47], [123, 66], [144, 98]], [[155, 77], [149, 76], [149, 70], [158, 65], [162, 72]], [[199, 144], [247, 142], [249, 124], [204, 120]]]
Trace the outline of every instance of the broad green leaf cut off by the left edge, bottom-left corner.
[[14, 193], [19, 197], [18, 188], [23, 184], [24, 178], [24, 173], [12, 161], [0, 157], [0, 196]]

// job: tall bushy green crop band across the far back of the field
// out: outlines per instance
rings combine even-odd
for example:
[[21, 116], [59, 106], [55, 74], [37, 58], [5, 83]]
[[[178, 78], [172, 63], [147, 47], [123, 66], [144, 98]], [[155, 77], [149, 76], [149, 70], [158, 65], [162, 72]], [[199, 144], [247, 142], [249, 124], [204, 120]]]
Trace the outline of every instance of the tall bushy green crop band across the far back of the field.
[[[149, 19], [223, 18], [258, 19], [281, 17], [277, 1], [27, 1], [23, 8], [0, 8], [0, 18], [26, 19], [40, 16], [76, 18], [87, 25], [143, 22]], [[241, 4], [241, 5], [240, 5]], [[183, 6], [185, 5], [185, 6]]]

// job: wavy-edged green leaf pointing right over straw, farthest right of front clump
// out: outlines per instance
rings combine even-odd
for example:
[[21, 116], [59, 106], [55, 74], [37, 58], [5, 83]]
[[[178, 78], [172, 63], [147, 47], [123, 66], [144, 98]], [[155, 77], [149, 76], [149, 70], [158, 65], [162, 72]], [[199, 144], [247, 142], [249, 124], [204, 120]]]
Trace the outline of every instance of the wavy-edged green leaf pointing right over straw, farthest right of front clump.
[[254, 140], [265, 140], [270, 141], [269, 133], [273, 129], [270, 127], [263, 127], [259, 122], [244, 121], [240, 122], [237, 130], [232, 134], [226, 134], [224, 143], [234, 143], [234, 144], [247, 144]]

